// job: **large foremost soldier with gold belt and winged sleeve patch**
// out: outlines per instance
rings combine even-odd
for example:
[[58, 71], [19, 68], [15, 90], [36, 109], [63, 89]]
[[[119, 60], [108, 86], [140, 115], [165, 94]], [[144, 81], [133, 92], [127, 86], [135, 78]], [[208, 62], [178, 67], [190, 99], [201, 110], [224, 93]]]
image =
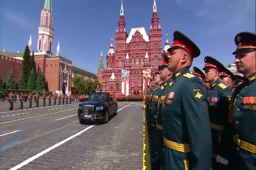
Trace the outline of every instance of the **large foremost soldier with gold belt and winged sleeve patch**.
[[211, 130], [206, 92], [200, 79], [189, 73], [193, 58], [200, 55], [194, 42], [174, 32], [168, 49], [168, 69], [173, 85], [166, 86], [162, 108], [167, 170], [210, 170]]

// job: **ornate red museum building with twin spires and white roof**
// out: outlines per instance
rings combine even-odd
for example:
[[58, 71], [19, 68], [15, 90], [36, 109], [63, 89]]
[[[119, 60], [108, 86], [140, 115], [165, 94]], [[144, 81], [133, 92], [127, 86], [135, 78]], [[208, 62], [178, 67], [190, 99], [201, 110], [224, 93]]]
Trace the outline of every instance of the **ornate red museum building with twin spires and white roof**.
[[103, 92], [122, 93], [126, 96], [142, 95], [142, 70], [156, 70], [163, 61], [162, 53], [169, 48], [166, 38], [162, 51], [162, 28], [159, 25], [155, 0], [151, 23], [149, 36], [144, 27], [132, 28], [128, 36], [125, 30], [123, 2], [121, 2], [115, 46], [111, 40], [106, 56], [106, 69], [103, 68], [102, 52], [100, 56], [97, 78], [102, 83]]

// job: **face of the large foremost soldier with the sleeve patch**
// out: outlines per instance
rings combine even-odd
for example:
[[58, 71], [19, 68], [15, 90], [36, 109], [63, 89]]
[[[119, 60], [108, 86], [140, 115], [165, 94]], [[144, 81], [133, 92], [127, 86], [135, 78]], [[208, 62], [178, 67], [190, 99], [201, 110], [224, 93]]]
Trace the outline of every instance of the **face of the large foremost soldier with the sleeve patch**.
[[168, 69], [175, 73], [181, 57], [180, 49], [173, 49], [168, 55]]

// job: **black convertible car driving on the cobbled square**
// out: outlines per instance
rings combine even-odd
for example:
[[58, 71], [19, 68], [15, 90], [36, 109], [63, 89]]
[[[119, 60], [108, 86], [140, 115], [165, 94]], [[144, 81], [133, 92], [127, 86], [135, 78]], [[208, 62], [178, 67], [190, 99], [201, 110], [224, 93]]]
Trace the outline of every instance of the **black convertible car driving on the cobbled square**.
[[107, 123], [112, 115], [117, 115], [117, 102], [108, 93], [92, 93], [78, 106], [78, 119], [81, 124], [89, 121]]

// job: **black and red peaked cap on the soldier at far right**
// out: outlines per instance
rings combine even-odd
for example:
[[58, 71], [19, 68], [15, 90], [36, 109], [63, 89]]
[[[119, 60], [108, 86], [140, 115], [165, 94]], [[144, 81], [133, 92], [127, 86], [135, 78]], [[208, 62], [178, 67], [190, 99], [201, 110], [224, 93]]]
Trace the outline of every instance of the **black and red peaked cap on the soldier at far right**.
[[235, 43], [237, 45], [233, 54], [242, 51], [250, 51], [256, 49], [256, 34], [250, 32], [238, 33], [235, 37]]

